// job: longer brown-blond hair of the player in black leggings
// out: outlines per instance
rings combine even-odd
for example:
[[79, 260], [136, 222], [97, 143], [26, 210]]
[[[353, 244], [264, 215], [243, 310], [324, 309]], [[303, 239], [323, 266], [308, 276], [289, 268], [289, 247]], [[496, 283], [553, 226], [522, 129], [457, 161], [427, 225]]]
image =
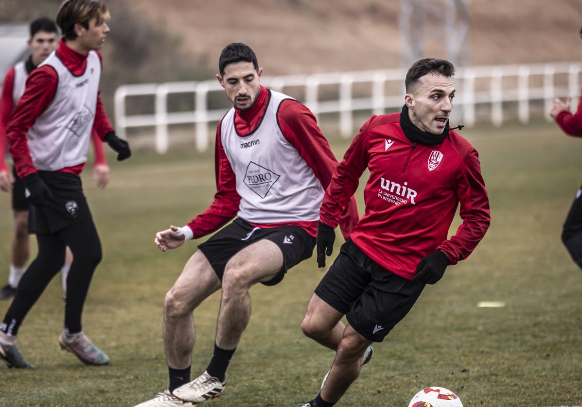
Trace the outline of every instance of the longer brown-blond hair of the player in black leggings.
[[65, 0], [56, 13], [56, 24], [63, 33], [65, 40], [74, 40], [75, 24], [89, 28], [91, 19], [97, 19], [95, 24], [100, 26], [109, 18], [109, 10], [102, 0]]

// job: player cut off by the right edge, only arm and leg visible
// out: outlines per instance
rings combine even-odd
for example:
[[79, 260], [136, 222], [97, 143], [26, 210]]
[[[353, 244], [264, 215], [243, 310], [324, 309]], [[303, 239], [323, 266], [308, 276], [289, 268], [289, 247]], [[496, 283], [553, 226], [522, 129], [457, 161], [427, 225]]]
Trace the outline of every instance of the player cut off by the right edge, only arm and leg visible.
[[[582, 37], [582, 30], [580, 30], [580, 37]], [[560, 99], [555, 99], [549, 115], [556, 120], [558, 126], [567, 135], [582, 137], [582, 97], [574, 114], [570, 113], [570, 101], [572, 98], [568, 98], [566, 103]], [[582, 199], [580, 199], [580, 195], [582, 195], [582, 187], [576, 191], [574, 203], [566, 217], [566, 222], [564, 222], [562, 242], [564, 242], [574, 262], [582, 269]]]

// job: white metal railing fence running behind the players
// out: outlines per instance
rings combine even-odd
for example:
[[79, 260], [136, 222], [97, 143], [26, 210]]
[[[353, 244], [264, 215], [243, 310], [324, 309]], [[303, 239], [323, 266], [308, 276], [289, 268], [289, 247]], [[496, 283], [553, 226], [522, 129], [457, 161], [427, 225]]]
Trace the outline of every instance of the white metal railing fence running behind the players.
[[[460, 106], [460, 123], [474, 126], [477, 106], [486, 105], [490, 110], [488, 117], [491, 123], [501, 126], [503, 103], [507, 105], [507, 102], [516, 103], [518, 119], [521, 123], [527, 123], [530, 120], [532, 101], [543, 101], [544, 115], [551, 120], [548, 112], [553, 98], [572, 97], [572, 105], [576, 106], [580, 94], [581, 68], [581, 62], [570, 62], [478, 66], [459, 70], [455, 75], [455, 105]], [[395, 110], [403, 105], [405, 75], [405, 70], [391, 69], [262, 77], [261, 83], [276, 91], [285, 91], [291, 87], [303, 88], [304, 98], [300, 101], [316, 117], [323, 113], [338, 113], [340, 134], [343, 137], [352, 137], [354, 112], [368, 110], [374, 114], [383, 114], [386, 109]], [[321, 88], [327, 86], [328, 89], [330, 85], [336, 89], [338, 97], [322, 100]], [[368, 92], [361, 95], [364, 85]], [[358, 87], [357, 92], [354, 91], [354, 86]], [[389, 92], [387, 88], [396, 91]], [[198, 151], [205, 151], [209, 138], [214, 137], [214, 133], [208, 131], [208, 124], [218, 122], [226, 112], [226, 109], [208, 109], [208, 96], [211, 92], [223, 92], [217, 80], [122, 85], [115, 92], [118, 134], [126, 137], [127, 128], [155, 126], [155, 149], [164, 153], [169, 145], [168, 126], [192, 123], [196, 124], [196, 148]], [[169, 112], [168, 95], [184, 93], [193, 95], [194, 109], [187, 112]], [[292, 92], [288, 94], [293, 96]], [[148, 95], [154, 100], [153, 114], [126, 115], [129, 98]], [[455, 110], [458, 109], [459, 107]]]

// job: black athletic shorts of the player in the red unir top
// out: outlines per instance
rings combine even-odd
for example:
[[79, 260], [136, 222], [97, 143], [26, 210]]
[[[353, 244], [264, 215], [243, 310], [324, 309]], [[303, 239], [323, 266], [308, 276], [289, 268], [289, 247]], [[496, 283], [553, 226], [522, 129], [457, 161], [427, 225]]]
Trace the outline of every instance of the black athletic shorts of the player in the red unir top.
[[424, 284], [383, 269], [348, 240], [315, 294], [345, 314], [364, 338], [382, 342], [410, 311], [423, 288]]

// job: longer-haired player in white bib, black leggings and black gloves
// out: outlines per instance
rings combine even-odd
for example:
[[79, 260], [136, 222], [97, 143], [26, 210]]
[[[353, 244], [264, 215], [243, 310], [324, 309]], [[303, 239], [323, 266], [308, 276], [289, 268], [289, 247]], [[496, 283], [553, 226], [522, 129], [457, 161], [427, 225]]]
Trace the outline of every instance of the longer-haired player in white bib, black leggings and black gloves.
[[109, 27], [101, 0], [65, 0], [56, 23], [63, 40], [34, 70], [10, 120], [6, 137], [16, 172], [24, 182], [30, 205], [30, 231], [38, 255], [30, 264], [0, 324], [0, 357], [9, 367], [33, 367], [16, 346], [16, 337], [29, 310], [73, 252], [65, 305], [62, 349], [88, 365], [105, 365], [109, 358], [83, 333], [81, 314], [91, 277], [101, 261], [101, 242], [80, 173], [87, 161], [91, 132], [129, 158], [127, 142], [115, 135], [99, 97], [101, 49]]

